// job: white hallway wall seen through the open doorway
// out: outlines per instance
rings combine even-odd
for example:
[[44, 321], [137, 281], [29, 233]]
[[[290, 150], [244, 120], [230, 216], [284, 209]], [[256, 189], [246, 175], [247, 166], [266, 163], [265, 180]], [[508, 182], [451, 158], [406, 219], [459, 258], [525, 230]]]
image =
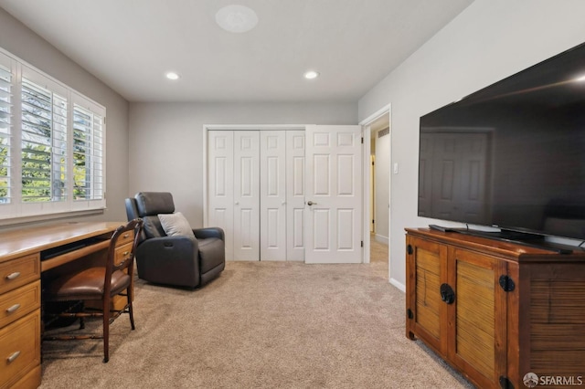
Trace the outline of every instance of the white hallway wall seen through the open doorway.
[[376, 239], [388, 244], [388, 205], [390, 204], [390, 135], [376, 134]]

